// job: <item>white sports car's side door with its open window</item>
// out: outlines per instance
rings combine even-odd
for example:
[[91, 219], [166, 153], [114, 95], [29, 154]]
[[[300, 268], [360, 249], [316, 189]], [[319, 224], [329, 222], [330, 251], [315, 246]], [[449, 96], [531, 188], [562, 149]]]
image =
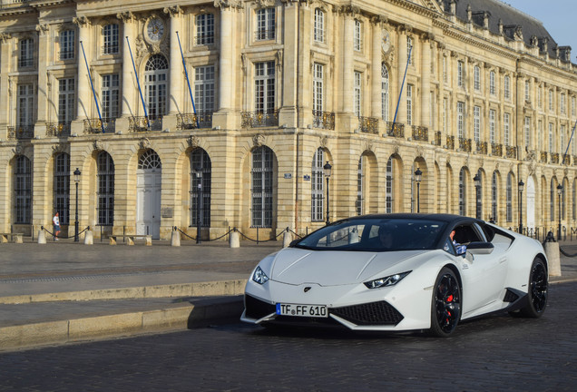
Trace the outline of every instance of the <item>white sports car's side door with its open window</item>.
[[[455, 235], [455, 239], [464, 245], [486, 240], [483, 230], [474, 222], [461, 224], [455, 229], [461, 230], [461, 235]], [[495, 248], [489, 254], [472, 254], [467, 251], [465, 257], [461, 257], [460, 264], [465, 317], [467, 313], [500, 300], [507, 267], [504, 250]]]

